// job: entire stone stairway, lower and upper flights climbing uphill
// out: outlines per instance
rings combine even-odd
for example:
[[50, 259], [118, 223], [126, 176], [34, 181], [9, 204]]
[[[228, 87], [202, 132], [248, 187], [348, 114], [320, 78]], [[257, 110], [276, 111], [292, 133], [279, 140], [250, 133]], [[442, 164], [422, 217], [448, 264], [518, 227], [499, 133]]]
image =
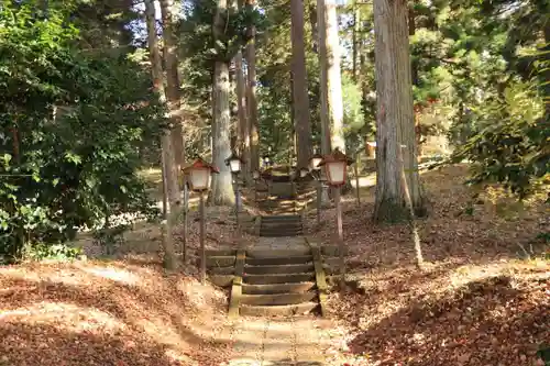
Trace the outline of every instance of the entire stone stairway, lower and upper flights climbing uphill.
[[258, 242], [209, 251], [207, 258], [211, 281], [231, 288], [229, 315], [324, 314], [327, 280], [337, 273], [338, 248], [304, 236], [302, 208], [310, 201], [311, 182], [279, 175], [255, 188], [262, 212]]

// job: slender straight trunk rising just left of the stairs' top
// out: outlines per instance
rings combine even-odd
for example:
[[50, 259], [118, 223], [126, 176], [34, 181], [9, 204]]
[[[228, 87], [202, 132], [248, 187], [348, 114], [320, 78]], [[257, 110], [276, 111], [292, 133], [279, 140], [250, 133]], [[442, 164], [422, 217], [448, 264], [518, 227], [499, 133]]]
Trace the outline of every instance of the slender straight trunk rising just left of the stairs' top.
[[[246, 7], [253, 9], [255, 0], [246, 0]], [[249, 111], [249, 140], [250, 140], [250, 170], [260, 169], [260, 136], [257, 122], [257, 100], [256, 100], [256, 27], [251, 26], [250, 41], [246, 45], [248, 66], [248, 111]]]

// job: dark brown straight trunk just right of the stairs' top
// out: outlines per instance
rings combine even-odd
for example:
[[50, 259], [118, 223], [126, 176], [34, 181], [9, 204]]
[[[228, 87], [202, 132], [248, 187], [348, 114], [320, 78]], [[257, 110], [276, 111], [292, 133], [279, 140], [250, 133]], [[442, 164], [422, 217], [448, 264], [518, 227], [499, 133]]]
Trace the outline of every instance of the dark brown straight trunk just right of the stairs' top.
[[306, 45], [304, 40], [304, 2], [290, 0], [293, 42], [294, 108], [298, 144], [298, 167], [307, 167], [311, 156], [311, 125], [309, 122], [309, 97], [306, 70]]

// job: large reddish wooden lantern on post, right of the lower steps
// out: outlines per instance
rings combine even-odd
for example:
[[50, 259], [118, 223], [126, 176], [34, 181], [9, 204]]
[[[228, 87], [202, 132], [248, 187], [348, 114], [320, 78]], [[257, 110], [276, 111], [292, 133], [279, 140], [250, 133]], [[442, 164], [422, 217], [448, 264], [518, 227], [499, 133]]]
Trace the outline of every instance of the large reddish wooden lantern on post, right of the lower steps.
[[345, 184], [345, 174], [348, 165], [351, 165], [353, 159], [349, 158], [338, 147], [334, 148], [332, 154], [323, 156], [319, 166], [324, 166], [327, 173], [328, 184], [336, 188], [334, 202], [337, 206], [337, 228], [338, 228], [338, 242], [340, 252], [340, 286], [343, 288], [345, 277], [345, 263], [344, 263], [344, 243], [343, 243], [343, 228], [342, 228], [342, 206], [340, 204], [341, 188]]

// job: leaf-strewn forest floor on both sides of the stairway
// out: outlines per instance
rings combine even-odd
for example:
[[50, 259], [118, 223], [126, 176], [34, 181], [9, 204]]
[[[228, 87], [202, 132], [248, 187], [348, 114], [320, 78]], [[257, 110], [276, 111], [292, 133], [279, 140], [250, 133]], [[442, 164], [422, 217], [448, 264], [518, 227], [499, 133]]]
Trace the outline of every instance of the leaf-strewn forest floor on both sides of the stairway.
[[[150, 224], [125, 234], [114, 256], [84, 237], [88, 260], [0, 267], [0, 365], [283, 366], [237, 363], [265, 340], [276, 352], [277, 337], [294, 340], [294, 365], [306, 333], [328, 355], [306, 365], [543, 365], [536, 353], [550, 343], [546, 197], [518, 204], [495, 187], [465, 187], [465, 177], [463, 165], [422, 175], [430, 202], [430, 215], [418, 220], [422, 270], [407, 225], [371, 222], [373, 180], [363, 178], [361, 207], [354, 192], [343, 204], [349, 288], [329, 297], [330, 323], [306, 322], [302, 333], [292, 322], [229, 322], [228, 293], [201, 286], [194, 265], [163, 271], [161, 232]], [[189, 264], [198, 247], [194, 215]], [[231, 215], [208, 209], [209, 247], [235, 241]], [[322, 212], [321, 228], [315, 212], [308, 218], [311, 235], [334, 243], [333, 209]]]

